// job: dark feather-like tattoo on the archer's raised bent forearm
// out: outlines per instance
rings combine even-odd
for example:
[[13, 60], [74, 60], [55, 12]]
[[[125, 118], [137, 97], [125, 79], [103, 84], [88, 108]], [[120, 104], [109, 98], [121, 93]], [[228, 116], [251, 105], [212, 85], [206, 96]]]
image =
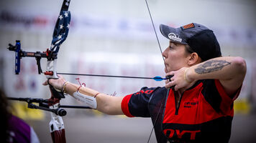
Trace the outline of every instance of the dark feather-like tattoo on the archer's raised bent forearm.
[[206, 74], [213, 71], [219, 71], [224, 66], [228, 66], [231, 64], [229, 61], [224, 60], [210, 60], [206, 61], [204, 64], [199, 64], [198, 67], [196, 67], [195, 71], [197, 74]]

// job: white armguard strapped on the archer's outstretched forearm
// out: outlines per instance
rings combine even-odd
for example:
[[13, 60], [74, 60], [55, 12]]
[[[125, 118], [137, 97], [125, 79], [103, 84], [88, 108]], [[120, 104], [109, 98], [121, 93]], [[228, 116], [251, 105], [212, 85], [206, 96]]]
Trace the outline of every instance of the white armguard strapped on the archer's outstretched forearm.
[[91, 107], [92, 109], [97, 108], [96, 98], [94, 98], [94, 97], [90, 97], [88, 95], [81, 94], [80, 92], [74, 92], [73, 97], [75, 97], [75, 99], [82, 102], [87, 107]]

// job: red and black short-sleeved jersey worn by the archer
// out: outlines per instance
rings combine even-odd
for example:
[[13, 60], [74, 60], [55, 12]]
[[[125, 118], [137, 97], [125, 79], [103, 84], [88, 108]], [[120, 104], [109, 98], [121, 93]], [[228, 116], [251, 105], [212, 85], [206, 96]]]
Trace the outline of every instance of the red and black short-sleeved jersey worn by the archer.
[[165, 87], [143, 87], [124, 97], [122, 111], [127, 117], [151, 117], [157, 142], [229, 142], [234, 99], [219, 80], [205, 79], [186, 89], [178, 103], [173, 89], [167, 95]]

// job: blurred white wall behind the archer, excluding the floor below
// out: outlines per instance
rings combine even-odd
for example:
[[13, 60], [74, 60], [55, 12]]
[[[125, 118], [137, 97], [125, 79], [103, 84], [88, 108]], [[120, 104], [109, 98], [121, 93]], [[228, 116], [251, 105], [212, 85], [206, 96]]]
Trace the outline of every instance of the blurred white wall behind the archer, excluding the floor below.
[[[1, 87], [12, 97], [48, 97], [37, 75], [35, 59], [23, 58], [21, 74], [14, 75], [14, 52], [9, 43], [22, 41], [26, 51], [45, 51], [50, 46], [62, 1], [0, 1]], [[162, 49], [168, 45], [159, 33], [159, 24], [182, 26], [196, 22], [213, 29], [224, 56], [242, 56], [248, 74], [241, 98], [255, 99], [256, 1], [253, 0], [149, 0], [152, 18]], [[111, 74], [137, 77], [165, 76], [163, 59], [150, 23], [144, 0], [73, 0], [68, 38], [61, 46], [58, 71], [83, 74]], [[41, 61], [44, 70], [45, 60]], [[249, 78], [248, 78], [249, 77]], [[76, 82], [76, 77], [65, 76]], [[86, 86], [123, 96], [143, 86], [163, 82], [140, 79], [81, 77]]]

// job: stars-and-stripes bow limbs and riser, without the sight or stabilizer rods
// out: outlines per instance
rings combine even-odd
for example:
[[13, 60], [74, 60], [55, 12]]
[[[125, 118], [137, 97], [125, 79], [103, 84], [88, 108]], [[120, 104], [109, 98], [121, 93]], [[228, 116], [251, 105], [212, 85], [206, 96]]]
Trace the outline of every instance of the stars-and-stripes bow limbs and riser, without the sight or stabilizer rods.
[[[45, 75], [47, 79], [58, 79], [56, 66], [57, 66], [57, 54], [60, 49], [60, 45], [65, 41], [68, 36], [69, 24], [70, 24], [70, 11], [68, 11], [68, 7], [70, 4], [70, 0], [64, 0], [63, 5], [60, 9], [60, 15], [58, 16], [58, 20], [55, 24], [55, 29], [52, 34], [52, 45], [50, 50], [47, 49], [47, 71]], [[52, 57], [52, 54], [56, 54], [56, 56]], [[49, 85], [51, 97], [49, 99], [49, 108], [50, 109], [58, 109], [60, 108], [60, 99], [65, 98], [64, 93], [62, 91], [56, 90], [54, 87]], [[50, 132], [52, 136], [52, 142], [65, 143], [65, 127], [62, 117], [50, 113]]]

